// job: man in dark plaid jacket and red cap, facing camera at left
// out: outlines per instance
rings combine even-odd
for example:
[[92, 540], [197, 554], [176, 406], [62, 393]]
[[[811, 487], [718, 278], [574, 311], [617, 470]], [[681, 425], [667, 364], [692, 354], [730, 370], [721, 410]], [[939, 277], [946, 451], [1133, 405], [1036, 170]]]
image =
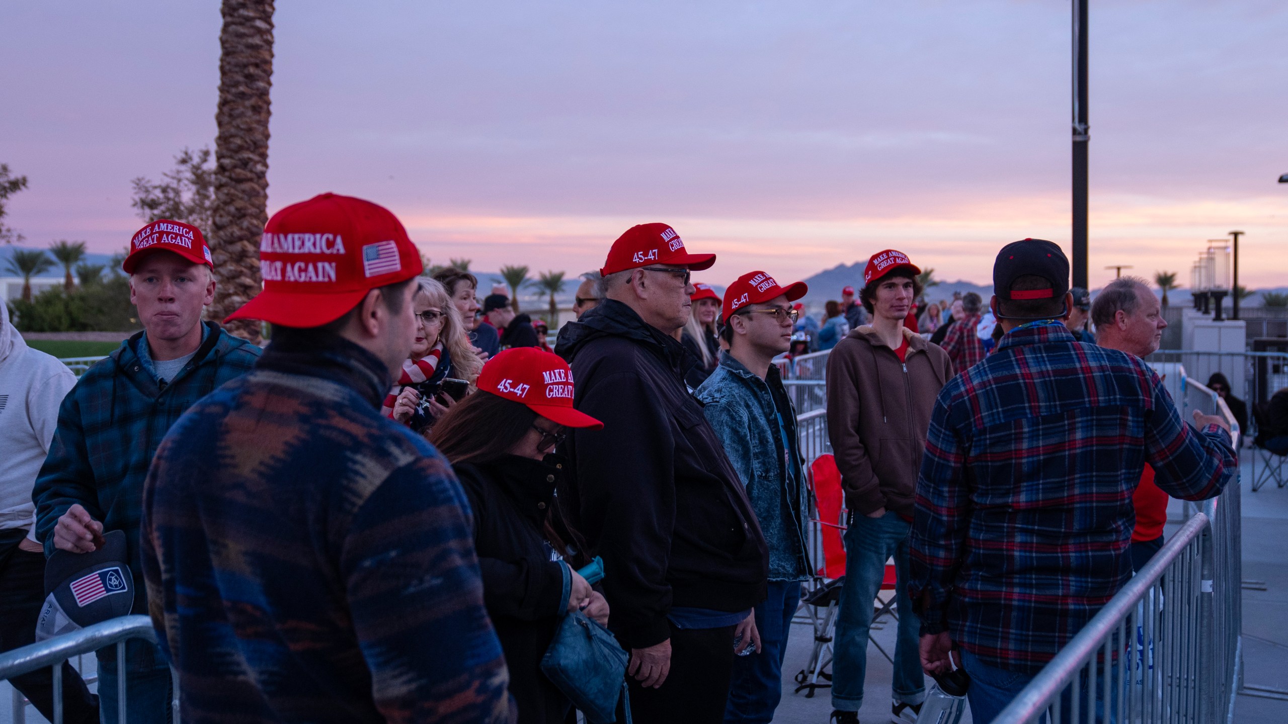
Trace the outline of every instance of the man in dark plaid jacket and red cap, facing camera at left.
[[[202, 322], [215, 296], [213, 262], [201, 231], [157, 220], [130, 240], [121, 268], [143, 331], [90, 367], [58, 411], [58, 429], [32, 500], [45, 554], [97, 550], [102, 535], [124, 531], [134, 573], [134, 613], [148, 607], [139, 558], [143, 479], [170, 425], [197, 399], [247, 370], [259, 348]], [[117, 716], [116, 648], [99, 652], [103, 721]], [[170, 669], [156, 644], [126, 644], [130, 721], [165, 721]]]

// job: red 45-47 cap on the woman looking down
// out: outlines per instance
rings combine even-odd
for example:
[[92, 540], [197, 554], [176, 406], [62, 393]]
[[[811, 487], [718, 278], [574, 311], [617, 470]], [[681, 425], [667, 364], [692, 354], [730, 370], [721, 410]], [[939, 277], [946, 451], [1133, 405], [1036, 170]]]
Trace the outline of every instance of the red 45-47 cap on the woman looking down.
[[567, 428], [600, 429], [603, 423], [572, 408], [572, 370], [563, 357], [537, 347], [514, 347], [483, 365], [478, 388], [522, 402]]

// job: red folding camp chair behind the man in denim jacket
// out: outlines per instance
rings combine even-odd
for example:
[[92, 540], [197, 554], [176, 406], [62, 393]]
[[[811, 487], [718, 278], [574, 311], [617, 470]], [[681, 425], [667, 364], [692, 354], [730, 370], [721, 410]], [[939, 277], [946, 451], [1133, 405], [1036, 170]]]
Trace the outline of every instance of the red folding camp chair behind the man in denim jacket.
[[[813, 697], [820, 688], [831, 687], [832, 675], [827, 671], [832, 665], [833, 649], [832, 639], [836, 634], [836, 616], [840, 611], [841, 587], [845, 585], [845, 510], [842, 508], [845, 496], [841, 492], [841, 473], [836, 469], [836, 459], [831, 455], [819, 456], [810, 465], [810, 478], [814, 487], [814, 501], [818, 509], [817, 523], [822, 531], [823, 540], [823, 567], [815, 572], [811, 581], [813, 587], [801, 596], [801, 608], [805, 609], [806, 621], [814, 630], [814, 648], [810, 652], [805, 669], [796, 674], [796, 693], [809, 689], [806, 698]], [[880, 630], [884, 618], [890, 616], [895, 621], [899, 616], [894, 607], [895, 600], [895, 573], [894, 564], [886, 563], [885, 575], [881, 580], [881, 589], [873, 602], [872, 630]], [[882, 599], [881, 591], [889, 591], [889, 596]], [[885, 648], [876, 639], [868, 636], [868, 642], [877, 647], [886, 661], [894, 663], [894, 658], [886, 653]], [[823, 679], [826, 683], [819, 683]]]

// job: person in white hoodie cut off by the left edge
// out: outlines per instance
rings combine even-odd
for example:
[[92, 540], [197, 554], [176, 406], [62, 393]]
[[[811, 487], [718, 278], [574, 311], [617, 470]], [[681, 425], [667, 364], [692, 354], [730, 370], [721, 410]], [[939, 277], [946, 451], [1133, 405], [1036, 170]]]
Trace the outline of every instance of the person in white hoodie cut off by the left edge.
[[[58, 359], [27, 347], [0, 303], [0, 652], [36, 640], [36, 620], [45, 600], [45, 554], [36, 542], [36, 506], [31, 488], [49, 453], [58, 407], [76, 375]], [[98, 721], [98, 700], [63, 662], [66, 721]], [[10, 681], [45, 719], [54, 719], [53, 672], [48, 666]]]

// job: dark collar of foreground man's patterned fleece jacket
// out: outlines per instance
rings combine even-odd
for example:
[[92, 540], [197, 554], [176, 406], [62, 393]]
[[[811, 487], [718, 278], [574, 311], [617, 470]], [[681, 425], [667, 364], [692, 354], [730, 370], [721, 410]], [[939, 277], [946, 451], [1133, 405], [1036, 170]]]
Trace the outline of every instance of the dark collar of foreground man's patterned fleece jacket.
[[353, 389], [375, 408], [393, 384], [379, 357], [340, 335], [322, 331], [274, 335], [255, 367], [331, 380]]

